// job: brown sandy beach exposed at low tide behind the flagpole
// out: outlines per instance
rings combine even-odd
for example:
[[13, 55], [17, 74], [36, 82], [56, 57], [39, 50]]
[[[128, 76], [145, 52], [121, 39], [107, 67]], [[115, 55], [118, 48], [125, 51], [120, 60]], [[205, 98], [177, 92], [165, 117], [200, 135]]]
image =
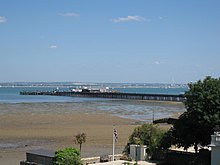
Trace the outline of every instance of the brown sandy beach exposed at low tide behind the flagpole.
[[7, 113], [0, 113], [0, 164], [19, 164], [25, 159], [25, 152], [32, 149], [79, 147], [73, 138], [80, 132], [87, 135], [82, 157], [111, 154], [113, 125], [119, 134], [116, 153], [121, 153], [137, 126], [135, 120], [111, 114], [83, 110], [70, 112], [65, 106], [53, 111], [54, 106], [44, 103], [0, 104], [1, 112], [7, 110]]

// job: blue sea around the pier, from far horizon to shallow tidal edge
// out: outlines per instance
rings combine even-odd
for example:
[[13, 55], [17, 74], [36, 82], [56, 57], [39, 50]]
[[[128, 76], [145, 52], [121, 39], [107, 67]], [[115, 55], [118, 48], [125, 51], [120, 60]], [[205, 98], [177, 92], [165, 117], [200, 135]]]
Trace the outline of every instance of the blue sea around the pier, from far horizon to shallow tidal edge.
[[[182, 103], [117, 100], [106, 98], [83, 98], [66, 96], [20, 95], [21, 91], [70, 91], [73, 88], [105, 88], [125, 93], [184, 94], [185, 84], [148, 84], [148, 83], [70, 83], [70, 82], [16, 82], [0, 83], [0, 104], [24, 105], [45, 104], [67, 106], [66, 112], [84, 111], [85, 113], [109, 113], [122, 118], [150, 121], [182, 113]], [[16, 106], [15, 106], [16, 107]], [[45, 108], [43, 111], [47, 111]], [[17, 110], [18, 111], [18, 110]], [[19, 111], [22, 111], [19, 109]], [[25, 110], [23, 110], [25, 111]], [[38, 109], [36, 109], [38, 111]], [[42, 111], [42, 109], [41, 109]], [[50, 109], [51, 111], [51, 109]], [[54, 111], [59, 111], [56, 108]], [[63, 113], [66, 113], [63, 112]], [[0, 108], [0, 115], [11, 113]], [[62, 113], [62, 112], [59, 112]]]

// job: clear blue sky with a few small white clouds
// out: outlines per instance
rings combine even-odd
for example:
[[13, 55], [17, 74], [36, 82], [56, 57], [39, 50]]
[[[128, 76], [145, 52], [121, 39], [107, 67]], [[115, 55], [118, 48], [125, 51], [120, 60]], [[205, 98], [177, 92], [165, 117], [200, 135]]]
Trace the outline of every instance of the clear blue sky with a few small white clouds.
[[219, 0], [1, 0], [0, 82], [220, 77]]

